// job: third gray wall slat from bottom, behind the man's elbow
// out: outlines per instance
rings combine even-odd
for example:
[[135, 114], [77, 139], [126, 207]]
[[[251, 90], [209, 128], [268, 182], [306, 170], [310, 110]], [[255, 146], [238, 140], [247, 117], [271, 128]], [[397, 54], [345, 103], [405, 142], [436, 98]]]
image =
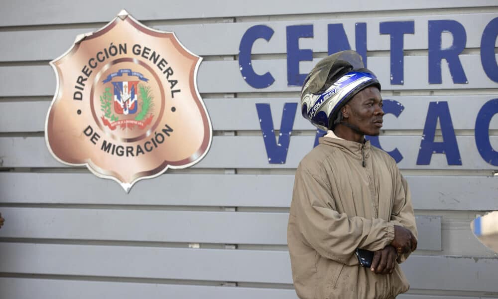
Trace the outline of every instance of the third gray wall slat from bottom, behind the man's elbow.
[[[2, 208], [1, 237], [134, 242], [287, 244], [287, 213]], [[81, 225], [85, 219], [85, 225]], [[130, 219], [140, 219], [139, 225]], [[418, 249], [441, 250], [441, 217], [417, 216]], [[248, 223], [251, 223], [249, 226]], [[143, 234], [143, 227], [161, 228]]]

